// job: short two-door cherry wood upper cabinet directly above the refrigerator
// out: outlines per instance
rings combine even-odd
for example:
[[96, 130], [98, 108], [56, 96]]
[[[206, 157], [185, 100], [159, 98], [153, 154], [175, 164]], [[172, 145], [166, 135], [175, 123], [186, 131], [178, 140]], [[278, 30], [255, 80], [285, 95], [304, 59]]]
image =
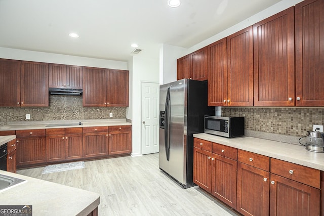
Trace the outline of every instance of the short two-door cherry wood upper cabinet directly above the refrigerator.
[[191, 54], [177, 59], [177, 80], [207, 80], [208, 47], [201, 48]]

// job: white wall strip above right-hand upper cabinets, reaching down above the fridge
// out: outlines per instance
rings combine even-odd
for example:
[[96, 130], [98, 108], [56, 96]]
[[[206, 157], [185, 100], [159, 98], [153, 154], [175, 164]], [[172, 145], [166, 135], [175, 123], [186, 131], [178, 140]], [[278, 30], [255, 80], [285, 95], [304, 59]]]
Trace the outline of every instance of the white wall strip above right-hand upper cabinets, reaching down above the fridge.
[[[231, 35], [232, 33], [235, 33], [241, 29], [244, 29], [248, 26], [251, 26], [265, 18], [268, 18], [276, 13], [279, 13], [280, 11], [283, 11], [287, 8], [290, 8], [291, 6], [294, 6], [300, 2], [302, 2], [303, 0], [282, 0], [281, 2], [265, 9], [264, 11], [204, 40], [204, 41], [201, 41], [199, 42], [198, 44], [192, 46], [191, 48], [189, 49], [183, 49], [182, 50], [182, 53], [180, 52], [180, 55], [178, 55], [175, 59], [170, 59], [170, 58], [164, 58], [164, 56], [160, 56], [160, 59], [162, 58], [163, 59], [163, 65], [169, 65], [170, 67], [167, 68], [163, 68], [163, 75], [161, 77], [171, 77], [172, 79], [174, 79], [174, 77], [176, 77], [176, 74], [177, 74], [177, 64], [174, 64], [175, 61], [177, 61], [178, 58], [182, 57], [182, 56], [185, 56], [189, 53], [192, 53], [196, 50], [199, 50], [200, 48], [203, 48], [203, 47], [206, 47], [210, 44], [212, 44], [213, 42], [215, 41], [218, 41], [226, 36], [229, 36]], [[170, 53], [173, 53], [175, 50], [177, 51], [181, 51], [178, 47], [175, 47], [175, 46], [164, 46], [163, 47], [163, 53], [167, 53], [167, 54], [170, 54]], [[160, 52], [161, 53], [161, 52]], [[178, 54], [178, 53], [175, 53], [175, 54]], [[174, 74], [175, 73], [175, 74]], [[176, 78], [175, 78], [176, 80]], [[172, 80], [172, 81], [175, 81], [175, 80]], [[164, 83], [167, 83], [169, 81], [166, 81], [164, 80]]]

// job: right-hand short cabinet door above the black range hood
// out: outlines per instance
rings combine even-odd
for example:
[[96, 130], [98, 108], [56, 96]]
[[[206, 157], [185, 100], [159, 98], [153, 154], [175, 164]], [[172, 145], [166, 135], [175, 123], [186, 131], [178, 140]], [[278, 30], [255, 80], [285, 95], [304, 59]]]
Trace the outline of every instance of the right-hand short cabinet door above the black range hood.
[[83, 88], [83, 67], [82, 66], [66, 66], [66, 88], [82, 89]]

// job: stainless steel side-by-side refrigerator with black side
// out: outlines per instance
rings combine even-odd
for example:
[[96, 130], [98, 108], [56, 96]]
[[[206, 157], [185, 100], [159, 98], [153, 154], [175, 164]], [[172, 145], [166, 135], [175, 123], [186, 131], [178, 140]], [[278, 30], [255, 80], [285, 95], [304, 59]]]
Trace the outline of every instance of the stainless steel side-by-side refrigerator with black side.
[[184, 188], [194, 186], [193, 134], [204, 133], [207, 81], [181, 79], [160, 85], [159, 168]]

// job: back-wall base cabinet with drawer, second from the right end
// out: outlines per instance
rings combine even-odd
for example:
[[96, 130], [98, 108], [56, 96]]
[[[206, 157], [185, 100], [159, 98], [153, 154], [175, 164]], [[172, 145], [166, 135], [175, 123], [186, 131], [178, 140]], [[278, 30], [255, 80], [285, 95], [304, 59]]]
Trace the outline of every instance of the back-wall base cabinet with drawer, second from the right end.
[[108, 126], [84, 127], [83, 157], [108, 155]]

